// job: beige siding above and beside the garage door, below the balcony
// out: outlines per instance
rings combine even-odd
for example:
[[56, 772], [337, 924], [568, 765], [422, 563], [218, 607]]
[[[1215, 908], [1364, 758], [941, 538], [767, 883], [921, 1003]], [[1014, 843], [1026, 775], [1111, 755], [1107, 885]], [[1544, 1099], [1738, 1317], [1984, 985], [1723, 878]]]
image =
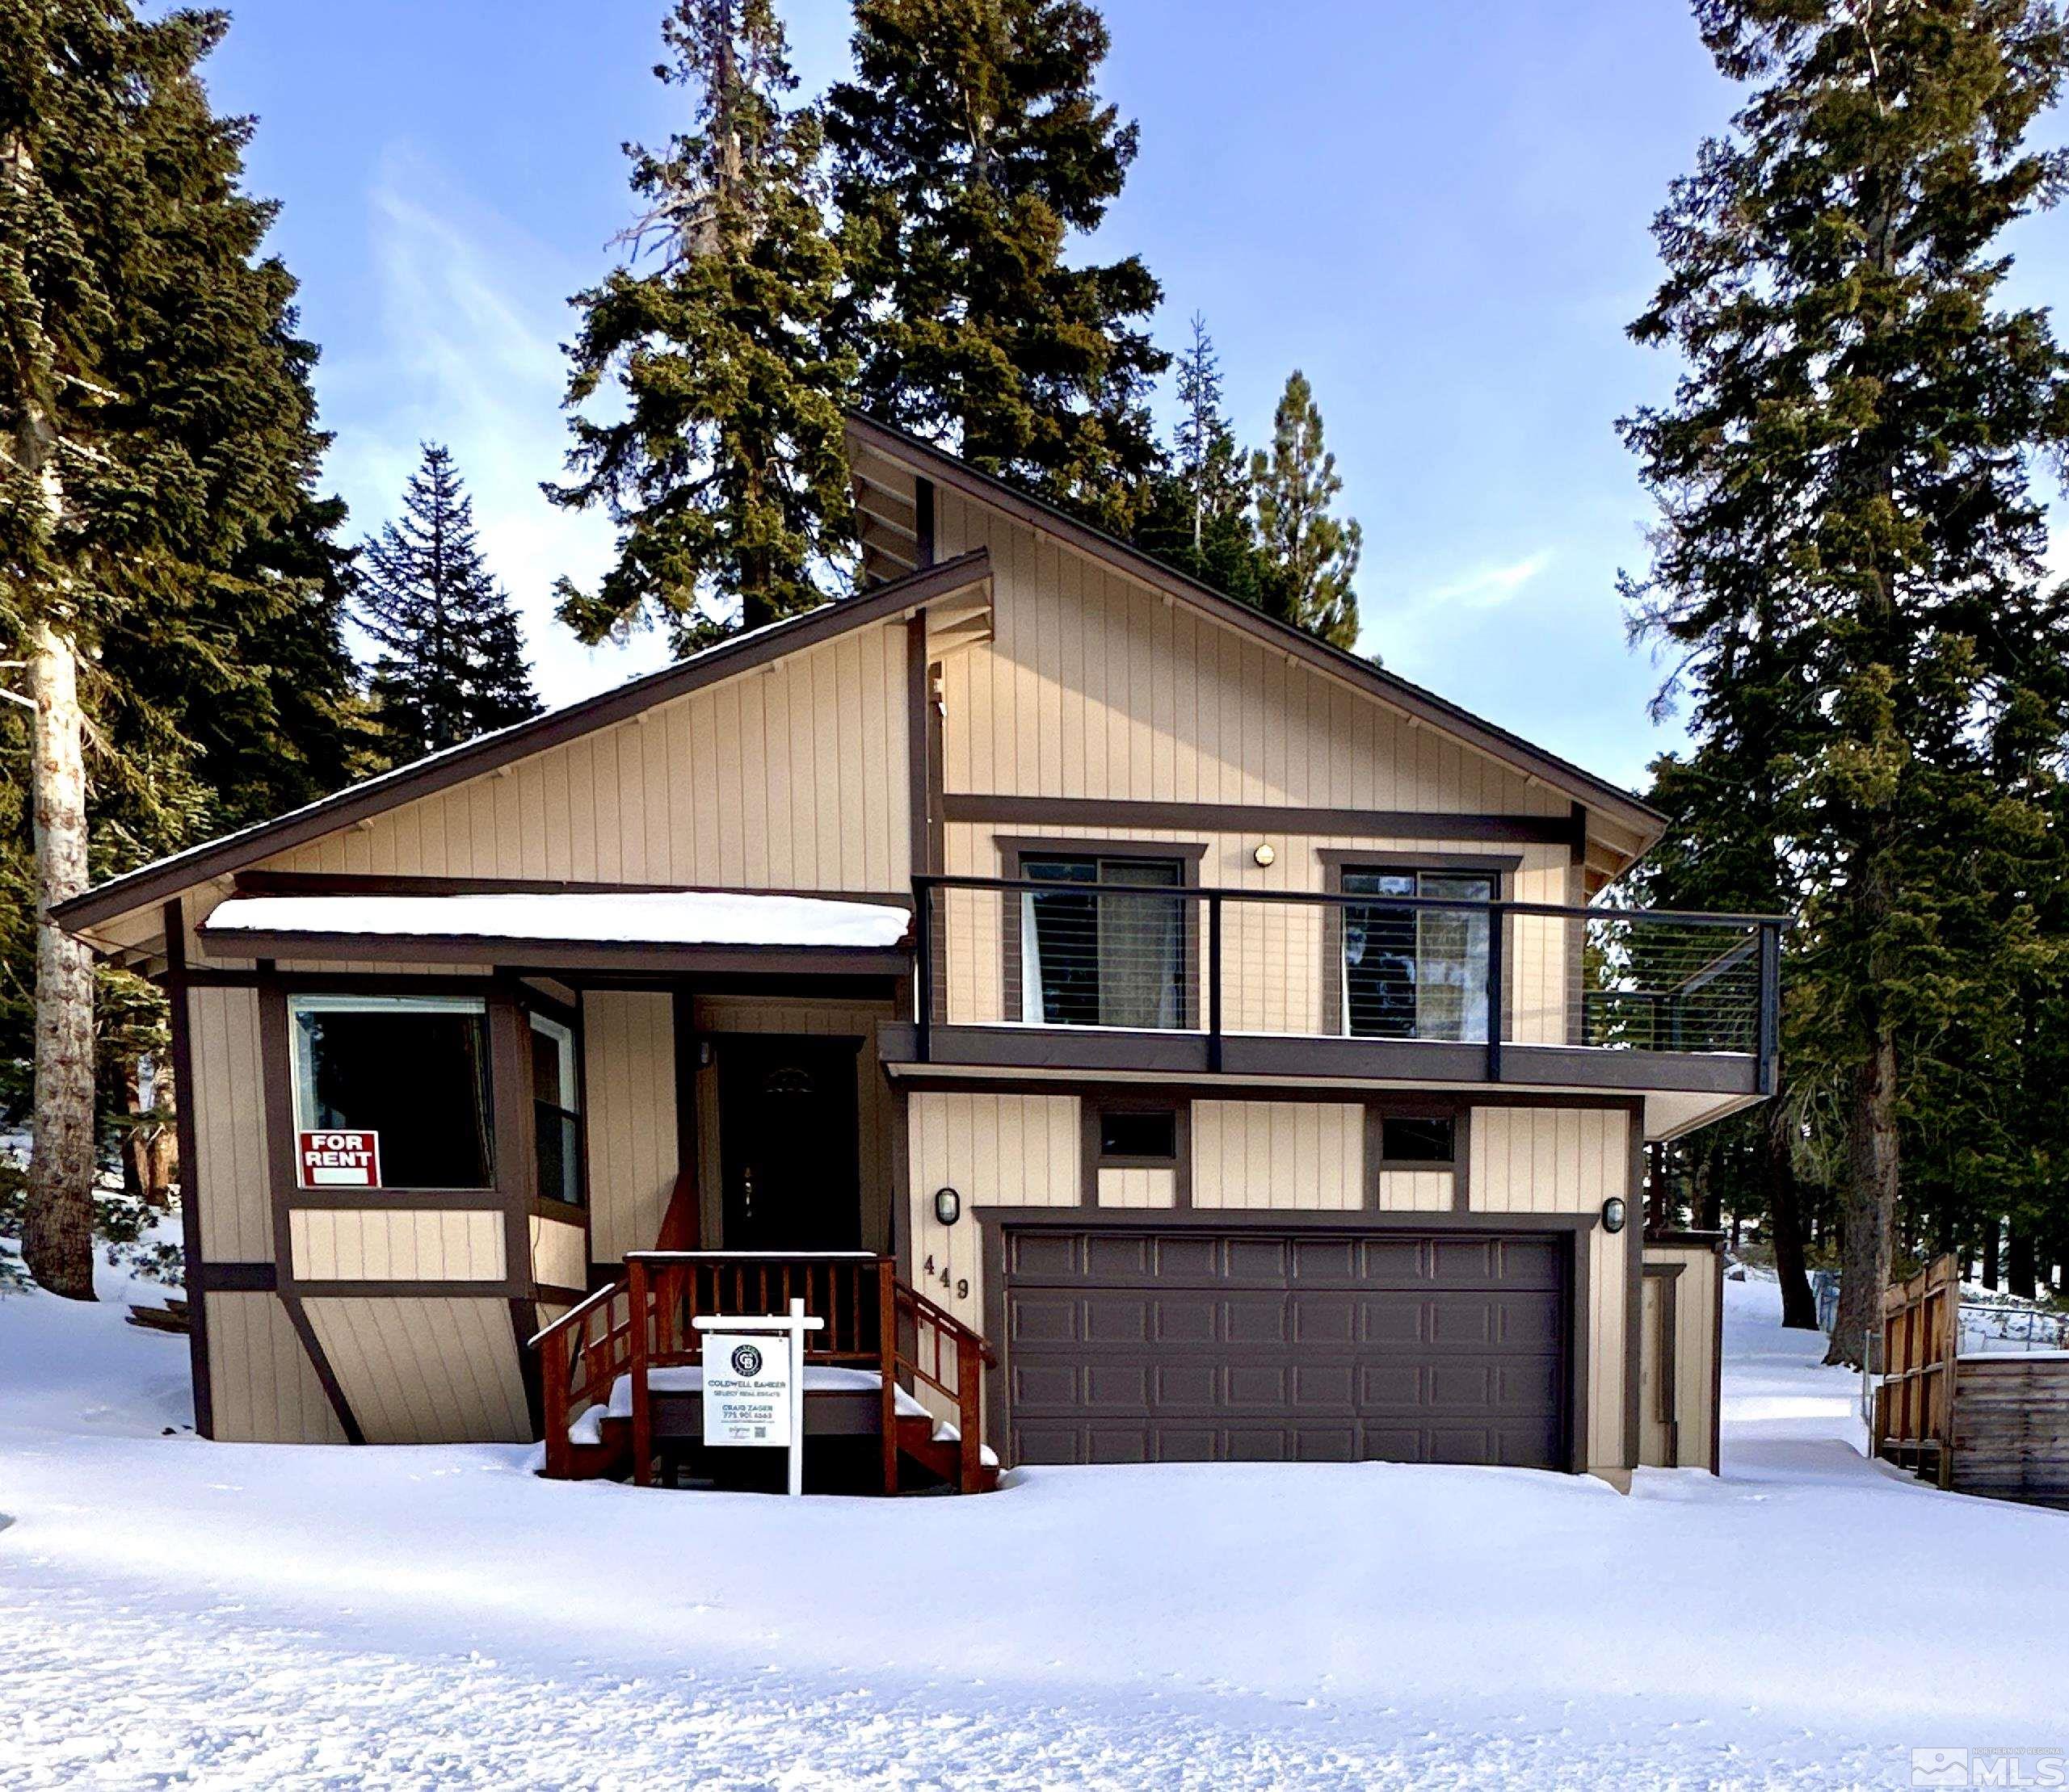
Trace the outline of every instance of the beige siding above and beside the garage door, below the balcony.
[[[1363, 1105], [1301, 1101], [1194, 1101], [1194, 1211], [1343, 1213], [1363, 1208]], [[968, 1324], [983, 1326], [985, 1233], [964, 1217], [943, 1227], [933, 1194], [956, 1188], [966, 1208], [1078, 1206], [1082, 1142], [1078, 1097], [962, 1095], [908, 1097], [912, 1268], [925, 1291]], [[1612, 1194], [1628, 1200], [1630, 1115], [1622, 1109], [1477, 1107], [1467, 1122], [1473, 1213], [1599, 1213]], [[1306, 1140], [1306, 1146], [1303, 1146]], [[1428, 1194], [1430, 1208], [1386, 1211], [1452, 1219], [1452, 1177], [1405, 1171], [1403, 1194]], [[1637, 1235], [1585, 1235], [1587, 1308], [1579, 1349], [1587, 1353], [1583, 1434], [1589, 1469], [1620, 1473], [1630, 1339], [1628, 1285]]]

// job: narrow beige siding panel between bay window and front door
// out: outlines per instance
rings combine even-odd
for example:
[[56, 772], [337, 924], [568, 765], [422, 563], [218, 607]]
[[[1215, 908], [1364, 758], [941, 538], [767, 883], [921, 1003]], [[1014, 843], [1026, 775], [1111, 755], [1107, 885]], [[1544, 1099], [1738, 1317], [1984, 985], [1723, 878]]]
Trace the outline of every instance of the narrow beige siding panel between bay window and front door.
[[674, 1192], [674, 997], [586, 989], [581, 1070], [590, 1260], [619, 1264], [654, 1250]]

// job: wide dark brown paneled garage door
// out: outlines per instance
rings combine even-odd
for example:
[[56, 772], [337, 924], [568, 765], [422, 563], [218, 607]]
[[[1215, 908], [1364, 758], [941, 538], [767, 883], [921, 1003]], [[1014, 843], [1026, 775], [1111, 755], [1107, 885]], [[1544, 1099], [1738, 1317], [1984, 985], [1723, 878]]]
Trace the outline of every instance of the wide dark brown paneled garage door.
[[1012, 1229], [1012, 1459], [1566, 1467], [1568, 1254], [1541, 1233]]

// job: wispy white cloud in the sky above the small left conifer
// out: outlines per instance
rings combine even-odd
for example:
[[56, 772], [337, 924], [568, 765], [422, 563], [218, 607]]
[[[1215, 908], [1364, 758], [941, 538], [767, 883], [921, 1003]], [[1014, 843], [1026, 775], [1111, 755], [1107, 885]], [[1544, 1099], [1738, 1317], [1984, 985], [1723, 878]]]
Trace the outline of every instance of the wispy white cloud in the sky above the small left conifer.
[[594, 267], [526, 236], [408, 147], [383, 157], [368, 195], [379, 275], [379, 344], [327, 381], [339, 428], [331, 476], [366, 532], [393, 511], [418, 459], [441, 441], [474, 495], [474, 519], [497, 577], [523, 615], [540, 695], [588, 695], [660, 664], [650, 635], [629, 648], [581, 648], [552, 615], [552, 581], [596, 577], [610, 526], [540, 495], [561, 472], [561, 416], [571, 327], [565, 298]]

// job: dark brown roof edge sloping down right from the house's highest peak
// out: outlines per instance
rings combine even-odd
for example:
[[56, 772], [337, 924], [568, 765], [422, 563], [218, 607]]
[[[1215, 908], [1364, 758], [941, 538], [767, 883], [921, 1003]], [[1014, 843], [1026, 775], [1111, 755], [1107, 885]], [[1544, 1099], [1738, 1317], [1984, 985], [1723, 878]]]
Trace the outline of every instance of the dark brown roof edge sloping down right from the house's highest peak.
[[1620, 784], [1612, 784], [1608, 778], [1597, 778], [1593, 772], [1575, 766], [1570, 759], [1562, 759], [1558, 753], [1548, 753], [1543, 747], [1531, 745], [1521, 735], [1510, 735], [1506, 728], [1500, 728], [1469, 710], [1461, 710], [1457, 704], [1446, 701], [1434, 691], [1426, 691], [1421, 685], [1409, 683], [1397, 673], [1388, 673], [1384, 666], [1374, 666], [1370, 660], [1361, 660], [1357, 654], [1332, 648], [1328, 641], [1320, 641], [1303, 629], [1295, 629], [1275, 617], [1266, 617], [1262, 610], [1254, 610], [1250, 604], [1243, 604], [1225, 592], [1217, 592], [1212, 586], [1202, 586], [1198, 579], [1163, 565], [1163, 561], [1150, 559], [1140, 548], [1132, 548], [1128, 542], [1117, 540], [1090, 524], [1082, 524], [1041, 499], [1032, 499], [991, 474], [977, 472], [977, 468], [966, 466], [952, 453], [937, 449], [933, 443], [921, 441], [914, 435], [906, 435], [904, 430], [892, 428], [890, 424], [877, 422], [861, 412], [848, 412], [848, 432], [850, 437], [867, 443], [879, 455], [900, 461], [921, 478], [933, 480], [935, 484], [962, 492], [977, 503], [1003, 511], [1016, 521], [1041, 530], [1043, 534], [1076, 548], [1078, 552], [1103, 561], [1105, 565], [1144, 586], [1150, 586], [1152, 590], [1167, 592], [1181, 602], [1206, 610], [1217, 621], [1256, 635], [1268, 646], [1291, 654], [1310, 666], [1318, 666], [1324, 673], [1345, 679], [1392, 708], [1409, 716], [1417, 716], [1430, 726], [1442, 728], [1533, 778], [1541, 778], [1546, 784], [1564, 790], [1579, 803], [1610, 815], [1624, 828], [1639, 834], [1647, 844], [1657, 840], [1668, 826], [1666, 815], [1639, 801]]

